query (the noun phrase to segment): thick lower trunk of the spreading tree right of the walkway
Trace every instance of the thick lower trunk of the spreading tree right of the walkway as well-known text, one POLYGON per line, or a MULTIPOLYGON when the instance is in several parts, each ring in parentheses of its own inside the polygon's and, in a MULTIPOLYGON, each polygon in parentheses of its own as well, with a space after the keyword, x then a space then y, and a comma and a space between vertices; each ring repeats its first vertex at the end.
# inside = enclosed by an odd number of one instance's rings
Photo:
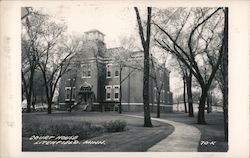
POLYGON ((205 105, 206 105, 206 98, 207 98, 207 89, 204 86, 202 86, 201 89, 202 89, 202 94, 201 94, 200 103, 199 103, 198 124, 206 124, 205 105))

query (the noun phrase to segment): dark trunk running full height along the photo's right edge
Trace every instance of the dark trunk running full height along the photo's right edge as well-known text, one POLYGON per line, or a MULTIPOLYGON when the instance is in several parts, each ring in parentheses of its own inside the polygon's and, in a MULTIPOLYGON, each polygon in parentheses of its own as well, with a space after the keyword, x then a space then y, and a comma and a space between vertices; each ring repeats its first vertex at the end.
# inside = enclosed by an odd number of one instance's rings
POLYGON ((224 53, 222 58, 223 68, 223 113, 224 113, 224 134, 228 141, 228 8, 225 8, 224 24, 224 53))

